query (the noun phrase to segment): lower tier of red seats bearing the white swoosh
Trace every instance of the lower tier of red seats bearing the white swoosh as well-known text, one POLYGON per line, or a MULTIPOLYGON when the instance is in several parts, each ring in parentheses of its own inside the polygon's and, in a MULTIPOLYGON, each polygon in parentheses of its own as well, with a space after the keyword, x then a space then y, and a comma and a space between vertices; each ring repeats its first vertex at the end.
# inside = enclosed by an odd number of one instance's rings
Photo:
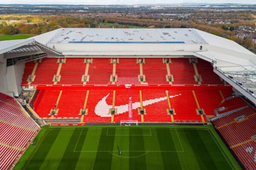
MULTIPOLYGON (((55 107, 58 96, 61 90, 40 90, 37 98, 33 104, 33 108, 39 116, 43 118, 50 118, 51 109, 55 107)), ((169 104, 167 97, 170 99, 171 108, 175 109, 173 115, 176 122, 202 122, 202 117, 198 114, 198 106, 192 89, 180 88, 153 88, 153 89, 88 89, 88 90, 62 90, 58 101, 58 114, 53 115, 54 118, 81 118, 80 110, 88 109, 87 114, 84 115, 84 122, 111 122, 110 109, 116 108, 114 115, 114 122, 120 120, 141 120, 141 115, 138 113, 138 108, 141 108, 140 91, 142 93, 142 104, 145 113, 143 115, 144 122, 171 122, 171 116, 167 114, 169 104), (88 91, 88 98, 85 105, 86 94, 88 91), (113 99, 115 91, 115 98, 113 99), (167 95, 166 95, 167 91, 167 95), (128 105, 130 103, 130 106, 128 105), (84 108, 85 105, 85 108, 84 108), (132 114, 129 114, 129 107, 132 114), (130 116, 129 116, 130 115, 130 116)), ((216 107, 215 102, 204 104, 204 99, 211 96, 212 100, 221 101, 221 95, 215 95, 216 91, 208 88, 195 91, 198 96, 200 108, 209 111, 206 112, 204 121, 206 122, 206 115, 214 115, 210 111, 216 107)), ((224 88, 221 91, 230 91, 230 88, 224 88)))

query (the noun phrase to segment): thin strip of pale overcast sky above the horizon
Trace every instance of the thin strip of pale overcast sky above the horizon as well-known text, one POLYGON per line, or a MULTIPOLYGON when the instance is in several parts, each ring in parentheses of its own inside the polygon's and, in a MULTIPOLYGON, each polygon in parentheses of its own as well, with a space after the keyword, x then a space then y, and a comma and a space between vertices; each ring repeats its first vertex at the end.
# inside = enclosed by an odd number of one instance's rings
POLYGON ((0 0, 0 4, 84 4, 84 5, 108 5, 108 4, 154 4, 154 3, 250 3, 256 4, 256 0, 0 0))

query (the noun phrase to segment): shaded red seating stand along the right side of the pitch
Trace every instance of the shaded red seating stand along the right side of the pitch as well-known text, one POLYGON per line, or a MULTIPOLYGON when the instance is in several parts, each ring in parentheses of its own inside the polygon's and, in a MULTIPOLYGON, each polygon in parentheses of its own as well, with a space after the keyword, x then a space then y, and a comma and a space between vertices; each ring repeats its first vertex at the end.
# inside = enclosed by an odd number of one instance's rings
POLYGON ((212 123, 221 134, 225 142, 247 170, 256 169, 256 111, 239 97, 232 97, 221 103, 232 109, 226 110, 228 114, 220 114, 212 123), (233 101, 233 102, 231 102, 233 101), (243 106, 237 108, 237 105, 243 106), (234 107, 235 106, 235 107, 234 107))

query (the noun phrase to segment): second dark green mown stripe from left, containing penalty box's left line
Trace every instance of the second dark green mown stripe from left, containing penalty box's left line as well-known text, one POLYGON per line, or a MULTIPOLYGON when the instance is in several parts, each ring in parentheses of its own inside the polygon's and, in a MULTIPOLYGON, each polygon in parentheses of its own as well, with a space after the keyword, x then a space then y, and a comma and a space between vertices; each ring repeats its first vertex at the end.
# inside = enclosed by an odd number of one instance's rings
POLYGON ((84 139, 86 135, 87 135, 87 129, 75 129, 73 131, 70 141, 66 147, 65 153, 62 156, 61 163, 58 166, 58 170, 63 170, 63 169, 73 170, 76 168, 76 164, 79 159, 80 152, 74 152, 74 149, 76 147, 76 149, 81 150, 81 147, 84 144, 84 139), (78 139, 79 139, 79 142, 78 142, 78 139))

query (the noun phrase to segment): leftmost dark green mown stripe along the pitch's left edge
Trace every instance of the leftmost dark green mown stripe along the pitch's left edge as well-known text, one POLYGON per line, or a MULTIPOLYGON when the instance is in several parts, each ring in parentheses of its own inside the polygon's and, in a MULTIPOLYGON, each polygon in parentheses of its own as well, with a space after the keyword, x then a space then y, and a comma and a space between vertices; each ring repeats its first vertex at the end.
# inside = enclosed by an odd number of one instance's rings
POLYGON ((61 129, 51 129, 24 169, 39 170, 61 129))

